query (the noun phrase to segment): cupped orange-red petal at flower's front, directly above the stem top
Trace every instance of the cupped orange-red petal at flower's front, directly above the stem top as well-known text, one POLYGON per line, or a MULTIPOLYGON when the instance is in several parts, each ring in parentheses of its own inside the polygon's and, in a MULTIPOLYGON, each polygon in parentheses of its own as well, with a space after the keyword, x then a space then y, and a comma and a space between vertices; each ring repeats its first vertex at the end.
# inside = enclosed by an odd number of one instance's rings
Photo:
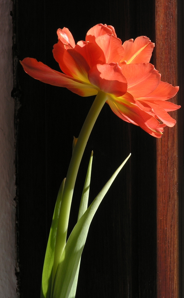
POLYGON ((105 93, 121 96, 126 93, 127 82, 117 63, 97 64, 88 73, 89 81, 105 93))

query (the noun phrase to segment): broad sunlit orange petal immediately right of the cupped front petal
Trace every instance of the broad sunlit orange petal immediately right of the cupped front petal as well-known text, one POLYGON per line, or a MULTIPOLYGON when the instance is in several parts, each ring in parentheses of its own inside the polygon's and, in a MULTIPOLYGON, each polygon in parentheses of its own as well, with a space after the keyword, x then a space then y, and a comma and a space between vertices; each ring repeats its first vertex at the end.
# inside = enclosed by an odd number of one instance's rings
POLYGON ((134 98, 145 97, 160 83, 161 75, 150 63, 123 64, 121 69, 127 80, 127 92, 134 98))

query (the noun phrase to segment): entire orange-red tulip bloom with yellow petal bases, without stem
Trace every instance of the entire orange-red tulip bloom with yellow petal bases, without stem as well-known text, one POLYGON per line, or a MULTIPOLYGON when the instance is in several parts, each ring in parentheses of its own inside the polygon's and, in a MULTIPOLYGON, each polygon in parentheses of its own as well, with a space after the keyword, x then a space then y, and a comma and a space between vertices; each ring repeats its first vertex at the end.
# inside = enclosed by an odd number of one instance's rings
POLYGON ((92 27, 86 41, 76 45, 67 28, 58 29, 57 34, 53 55, 63 73, 36 59, 25 58, 21 64, 31 77, 66 87, 81 96, 103 91, 118 117, 157 138, 166 125, 175 125, 167 112, 180 106, 166 100, 174 97, 179 87, 160 81, 161 75, 149 63, 154 48, 149 38, 140 36, 122 45, 114 28, 103 24, 92 27))

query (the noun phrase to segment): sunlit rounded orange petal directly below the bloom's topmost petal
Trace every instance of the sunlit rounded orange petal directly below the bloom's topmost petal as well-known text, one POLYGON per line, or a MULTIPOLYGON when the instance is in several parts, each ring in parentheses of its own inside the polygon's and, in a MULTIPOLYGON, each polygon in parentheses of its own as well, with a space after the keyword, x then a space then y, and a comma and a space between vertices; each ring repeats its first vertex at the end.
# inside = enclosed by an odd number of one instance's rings
POLYGON ((106 58, 106 63, 118 63, 124 55, 122 42, 114 35, 103 34, 95 39, 106 58))

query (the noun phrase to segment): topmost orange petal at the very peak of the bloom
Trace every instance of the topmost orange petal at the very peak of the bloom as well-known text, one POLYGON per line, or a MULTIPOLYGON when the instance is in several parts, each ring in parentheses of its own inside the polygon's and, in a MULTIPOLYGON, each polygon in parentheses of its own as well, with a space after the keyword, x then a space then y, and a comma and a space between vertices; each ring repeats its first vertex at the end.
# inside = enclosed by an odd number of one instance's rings
POLYGON ((96 37, 103 34, 110 34, 110 35, 112 34, 116 36, 114 27, 107 26, 106 24, 105 25, 98 24, 92 27, 91 29, 89 29, 89 31, 86 34, 86 41, 94 42, 96 37))

